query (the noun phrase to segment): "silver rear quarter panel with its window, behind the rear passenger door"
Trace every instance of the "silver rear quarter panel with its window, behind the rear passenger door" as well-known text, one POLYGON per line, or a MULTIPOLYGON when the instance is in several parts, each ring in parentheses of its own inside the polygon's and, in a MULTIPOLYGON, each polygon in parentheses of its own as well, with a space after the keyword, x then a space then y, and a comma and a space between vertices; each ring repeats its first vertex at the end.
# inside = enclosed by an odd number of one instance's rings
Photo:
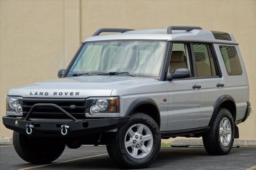
POLYGON ((240 123, 249 100, 249 84, 246 69, 238 45, 214 44, 222 68, 224 93, 236 102, 236 123, 240 123))

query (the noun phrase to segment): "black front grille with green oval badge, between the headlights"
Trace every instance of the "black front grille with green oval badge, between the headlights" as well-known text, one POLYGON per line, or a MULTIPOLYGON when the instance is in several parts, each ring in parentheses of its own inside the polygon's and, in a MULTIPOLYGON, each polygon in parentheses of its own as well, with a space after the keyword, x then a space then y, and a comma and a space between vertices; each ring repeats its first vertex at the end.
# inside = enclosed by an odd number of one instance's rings
MULTIPOLYGON (((70 113, 77 119, 85 117, 85 99, 50 99, 50 98, 23 98, 23 116, 26 117, 34 104, 53 103, 70 113), (75 109, 70 109, 70 105, 75 105, 75 109)), ((54 107, 36 107, 31 118, 61 118, 69 119, 54 107)))

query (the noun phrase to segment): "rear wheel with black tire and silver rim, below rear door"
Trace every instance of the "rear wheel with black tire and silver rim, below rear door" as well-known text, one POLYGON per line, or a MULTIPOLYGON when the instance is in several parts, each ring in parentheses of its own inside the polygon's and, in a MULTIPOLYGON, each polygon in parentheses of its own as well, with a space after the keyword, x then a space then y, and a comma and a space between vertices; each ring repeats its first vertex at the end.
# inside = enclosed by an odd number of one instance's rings
POLYGON ((219 108, 212 126, 203 136, 204 148, 210 155, 225 155, 234 142, 234 120, 228 109, 219 108))

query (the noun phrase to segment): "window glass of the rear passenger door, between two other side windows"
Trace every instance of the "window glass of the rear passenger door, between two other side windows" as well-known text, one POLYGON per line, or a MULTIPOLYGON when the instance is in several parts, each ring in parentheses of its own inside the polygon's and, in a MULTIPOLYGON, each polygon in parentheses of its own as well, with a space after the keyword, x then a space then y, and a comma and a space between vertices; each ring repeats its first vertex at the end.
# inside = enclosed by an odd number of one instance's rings
POLYGON ((192 46, 198 77, 216 76, 216 69, 210 45, 193 43, 192 46))

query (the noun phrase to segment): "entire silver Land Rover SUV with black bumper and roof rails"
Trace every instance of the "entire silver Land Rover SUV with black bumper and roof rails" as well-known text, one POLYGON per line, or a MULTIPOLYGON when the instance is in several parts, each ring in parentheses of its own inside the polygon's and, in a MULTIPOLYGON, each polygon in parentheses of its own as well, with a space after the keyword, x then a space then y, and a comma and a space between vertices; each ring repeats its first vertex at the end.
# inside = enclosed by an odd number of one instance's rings
POLYGON ((116 163, 144 168, 161 138, 176 136, 202 136, 209 154, 228 154, 250 115, 242 55, 226 32, 101 28, 58 77, 8 92, 3 123, 27 162, 106 144, 116 163))

